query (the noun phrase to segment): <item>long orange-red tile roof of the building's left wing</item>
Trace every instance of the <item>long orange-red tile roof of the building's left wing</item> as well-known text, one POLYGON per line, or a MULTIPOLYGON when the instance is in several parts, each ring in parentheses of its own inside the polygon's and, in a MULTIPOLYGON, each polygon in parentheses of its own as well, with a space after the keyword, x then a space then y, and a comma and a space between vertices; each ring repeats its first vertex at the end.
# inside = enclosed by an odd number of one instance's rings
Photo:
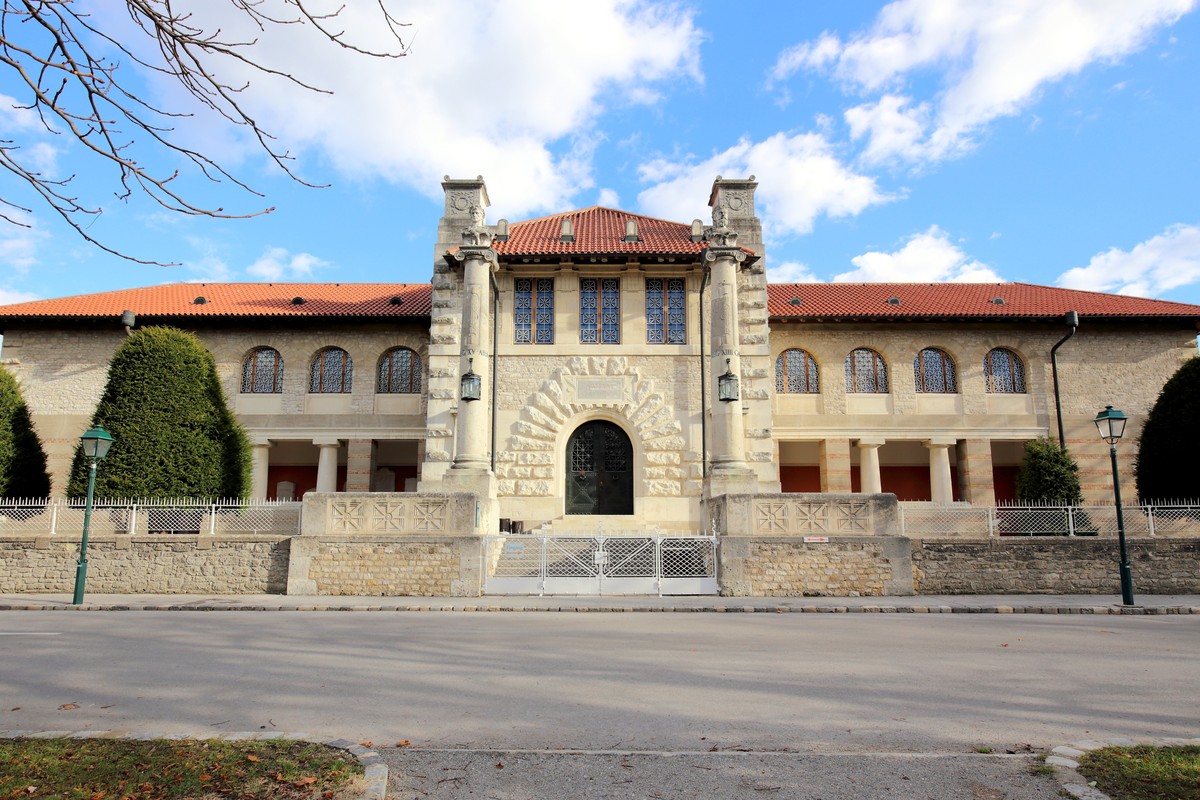
POLYGON ((14 318, 428 317, 427 283, 168 283, 0 306, 14 318), (294 302, 296 297, 302 303, 294 302))

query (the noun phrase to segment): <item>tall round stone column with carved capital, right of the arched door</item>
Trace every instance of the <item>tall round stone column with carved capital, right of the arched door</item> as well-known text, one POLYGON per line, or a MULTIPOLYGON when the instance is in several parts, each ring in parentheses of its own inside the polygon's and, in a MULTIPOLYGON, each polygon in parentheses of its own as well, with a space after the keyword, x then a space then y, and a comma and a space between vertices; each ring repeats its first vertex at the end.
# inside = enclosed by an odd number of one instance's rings
POLYGON ((708 477, 709 497, 752 494, 758 488, 756 473, 746 463, 745 422, 740 386, 742 355, 738 349, 738 265, 746 259, 738 247, 738 234, 728 227, 726 211, 713 209, 710 242, 704 253, 712 271, 713 349, 709 356, 709 397, 713 407, 713 459, 708 477), (718 385, 721 375, 738 375, 739 396, 721 401, 718 385))

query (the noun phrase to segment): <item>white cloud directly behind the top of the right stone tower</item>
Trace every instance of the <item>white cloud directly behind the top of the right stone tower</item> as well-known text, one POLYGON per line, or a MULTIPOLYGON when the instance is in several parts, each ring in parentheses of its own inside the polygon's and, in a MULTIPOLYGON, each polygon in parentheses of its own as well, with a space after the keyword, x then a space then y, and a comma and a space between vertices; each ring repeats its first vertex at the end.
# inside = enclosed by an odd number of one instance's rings
POLYGON ((668 219, 708 219, 704 205, 718 175, 767 176, 756 206, 768 237, 806 234, 820 216, 845 217, 889 199, 875 179, 842 164, 818 133, 776 133, 762 142, 742 139, 704 161, 659 158, 642 164, 640 176, 653 184, 638 194, 641 207, 668 219))

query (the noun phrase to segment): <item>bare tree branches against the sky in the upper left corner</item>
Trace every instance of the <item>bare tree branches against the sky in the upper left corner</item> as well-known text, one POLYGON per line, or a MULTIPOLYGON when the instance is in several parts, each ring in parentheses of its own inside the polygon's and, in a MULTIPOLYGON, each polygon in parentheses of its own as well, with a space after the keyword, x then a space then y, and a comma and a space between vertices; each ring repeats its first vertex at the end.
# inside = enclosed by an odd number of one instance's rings
MULTIPOLYGON (((218 0, 208 0, 216 2, 218 0)), ((214 182, 228 182, 254 197, 264 197, 238 179, 204 152, 182 144, 175 134, 175 120, 191 116, 188 112, 158 108, 139 90, 122 82, 120 61, 108 55, 108 49, 128 61, 167 76, 184 88, 202 108, 209 109, 234 126, 250 132, 264 152, 289 178, 314 186, 293 169, 292 156, 276 138, 253 116, 242 92, 248 83, 230 84, 220 76, 222 67, 239 66, 263 77, 286 80, 314 92, 326 90, 306 83, 287 70, 256 59, 257 40, 238 40, 222 30, 206 30, 190 12, 179 12, 173 0, 125 0, 126 11, 136 30, 151 40, 157 59, 140 56, 134 42, 101 28, 89 14, 76 7, 76 0, 0 0, 0 68, 7 67, 22 94, 16 110, 32 112, 41 127, 52 136, 62 136, 86 149, 100 164, 115 168, 119 185, 115 198, 128 199, 140 193, 164 209, 188 215, 222 219, 246 218, 269 213, 274 207, 259 207, 245 213, 188 199, 178 179, 179 170, 157 172, 142 163, 136 152, 146 149, 160 155, 182 157, 196 173, 214 182)), ((397 22, 376 0, 377 13, 384 30, 395 42, 391 50, 364 47, 337 28, 344 6, 332 12, 318 12, 312 0, 224 0, 259 31, 280 25, 296 25, 317 31, 332 46, 368 58, 396 59, 407 55, 408 48, 400 35, 403 24, 397 22)), ((137 261, 131 253, 104 245, 88 228, 101 213, 101 205, 82 200, 71 188, 74 175, 52 178, 37 168, 36 154, 23 145, 19 137, 5 132, 0 139, 0 168, 18 184, 30 187, 84 240, 101 249, 137 261)), ((0 209, 32 213, 11 197, 0 194, 0 209)), ((18 227, 29 227, 19 215, 0 211, 0 219, 18 227)))

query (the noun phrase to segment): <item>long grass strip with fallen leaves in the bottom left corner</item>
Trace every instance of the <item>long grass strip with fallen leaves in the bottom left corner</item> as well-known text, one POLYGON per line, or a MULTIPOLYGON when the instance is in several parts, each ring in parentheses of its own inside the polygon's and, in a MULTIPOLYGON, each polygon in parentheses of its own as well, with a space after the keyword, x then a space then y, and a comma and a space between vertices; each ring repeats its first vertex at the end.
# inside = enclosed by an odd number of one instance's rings
POLYGON ((361 774, 307 741, 0 740, 0 800, 335 800, 361 774))

